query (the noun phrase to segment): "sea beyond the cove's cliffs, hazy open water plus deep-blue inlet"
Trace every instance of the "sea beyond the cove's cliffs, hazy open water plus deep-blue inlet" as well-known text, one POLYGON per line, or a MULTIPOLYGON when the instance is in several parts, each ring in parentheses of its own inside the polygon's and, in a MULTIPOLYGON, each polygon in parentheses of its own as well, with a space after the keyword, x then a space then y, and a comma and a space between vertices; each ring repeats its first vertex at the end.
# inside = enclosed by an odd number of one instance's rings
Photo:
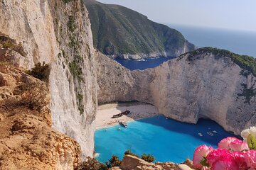
MULTIPOLYGON (((167 25, 180 31, 188 41, 192 42, 197 47, 218 47, 240 55, 256 57, 256 31, 246 32, 242 30, 178 26, 174 24, 167 25)), ((117 62, 131 70, 143 70, 157 67, 159 64, 169 59, 170 58, 160 57, 157 59, 146 59, 144 62, 118 59, 117 62)))

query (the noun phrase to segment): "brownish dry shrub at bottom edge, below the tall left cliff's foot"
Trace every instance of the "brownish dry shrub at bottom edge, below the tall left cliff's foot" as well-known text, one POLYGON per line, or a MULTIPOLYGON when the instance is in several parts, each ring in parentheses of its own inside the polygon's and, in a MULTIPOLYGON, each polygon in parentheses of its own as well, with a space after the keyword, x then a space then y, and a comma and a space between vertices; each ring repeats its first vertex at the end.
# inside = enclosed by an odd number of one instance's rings
POLYGON ((96 159, 87 157, 87 160, 79 164, 75 170, 107 170, 107 166, 96 159))

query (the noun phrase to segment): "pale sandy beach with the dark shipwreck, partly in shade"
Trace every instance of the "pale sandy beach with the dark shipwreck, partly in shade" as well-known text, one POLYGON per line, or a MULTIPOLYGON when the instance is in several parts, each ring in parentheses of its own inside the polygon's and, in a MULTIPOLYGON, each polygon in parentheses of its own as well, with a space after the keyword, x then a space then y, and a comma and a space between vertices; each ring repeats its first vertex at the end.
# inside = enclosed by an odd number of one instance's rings
POLYGON ((97 114, 94 121, 96 129, 107 128, 112 125, 117 125, 120 121, 130 122, 140 118, 150 118, 159 115, 155 106, 139 103, 107 103, 97 108, 97 114), (111 118, 124 111, 131 111, 129 115, 122 115, 120 118, 111 118))

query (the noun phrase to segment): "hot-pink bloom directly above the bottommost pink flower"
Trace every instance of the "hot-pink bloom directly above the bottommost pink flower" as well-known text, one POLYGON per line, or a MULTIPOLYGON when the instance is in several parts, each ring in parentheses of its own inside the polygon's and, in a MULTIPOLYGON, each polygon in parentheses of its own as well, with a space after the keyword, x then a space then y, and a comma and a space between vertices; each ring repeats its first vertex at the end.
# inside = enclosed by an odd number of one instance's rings
POLYGON ((214 149, 212 152, 210 152, 207 157, 207 162, 210 166, 213 166, 215 162, 218 160, 230 160, 233 159, 232 153, 227 149, 214 149))

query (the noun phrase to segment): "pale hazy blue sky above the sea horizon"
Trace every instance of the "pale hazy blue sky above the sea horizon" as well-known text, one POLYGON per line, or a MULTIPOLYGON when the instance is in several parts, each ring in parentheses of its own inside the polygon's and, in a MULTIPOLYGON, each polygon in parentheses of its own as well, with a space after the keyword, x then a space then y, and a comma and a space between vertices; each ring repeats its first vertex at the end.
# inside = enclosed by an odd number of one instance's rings
POLYGON ((98 0, 159 23, 256 31, 256 0, 98 0))

